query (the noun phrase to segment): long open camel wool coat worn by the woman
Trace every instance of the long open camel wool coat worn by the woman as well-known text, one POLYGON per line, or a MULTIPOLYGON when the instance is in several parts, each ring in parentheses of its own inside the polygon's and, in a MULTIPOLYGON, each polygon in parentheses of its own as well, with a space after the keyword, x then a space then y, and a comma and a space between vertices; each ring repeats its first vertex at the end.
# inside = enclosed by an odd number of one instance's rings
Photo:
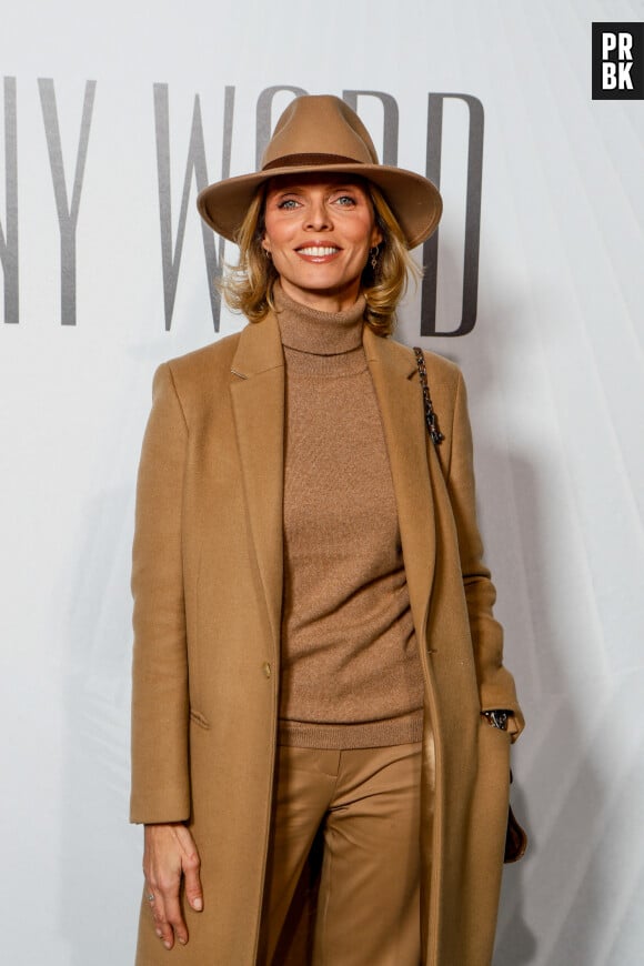
MULTIPOLYGON (((453 363, 426 354, 445 436, 434 449, 411 350, 369 328, 363 344, 424 677, 423 966, 489 966, 510 743, 523 718, 481 562, 465 389, 453 363), (514 711, 513 734, 481 716, 490 708, 514 711)), ((133 547, 131 821, 190 826, 204 910, 185 904, 190 940, 168 953, 143 902, 138 966, 256 962, 280 684, 283 443, 274 315, 159 368, 133 547)))

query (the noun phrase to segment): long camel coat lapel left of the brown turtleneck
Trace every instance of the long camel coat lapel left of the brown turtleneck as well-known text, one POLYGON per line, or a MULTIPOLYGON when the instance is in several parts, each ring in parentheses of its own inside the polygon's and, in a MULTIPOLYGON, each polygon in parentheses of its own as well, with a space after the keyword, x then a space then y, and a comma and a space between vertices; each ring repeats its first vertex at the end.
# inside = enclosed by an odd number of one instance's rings
POLYGON ((271 631, 279 648, 283 578, 284 355, 274 315, 251 323, 242 331, 231 374, 244 494, 271 631))

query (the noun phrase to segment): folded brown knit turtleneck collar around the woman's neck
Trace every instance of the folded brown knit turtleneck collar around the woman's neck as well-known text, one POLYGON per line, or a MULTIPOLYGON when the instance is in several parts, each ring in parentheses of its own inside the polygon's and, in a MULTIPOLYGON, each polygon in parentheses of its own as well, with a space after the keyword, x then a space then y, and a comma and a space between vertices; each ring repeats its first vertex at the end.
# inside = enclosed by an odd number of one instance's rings
POLYGON ((340 355, 362 348, 365 300, 344 312, 321 312, 294 302, 278 283, 273 292, 282 344, 313 355, 340 355))

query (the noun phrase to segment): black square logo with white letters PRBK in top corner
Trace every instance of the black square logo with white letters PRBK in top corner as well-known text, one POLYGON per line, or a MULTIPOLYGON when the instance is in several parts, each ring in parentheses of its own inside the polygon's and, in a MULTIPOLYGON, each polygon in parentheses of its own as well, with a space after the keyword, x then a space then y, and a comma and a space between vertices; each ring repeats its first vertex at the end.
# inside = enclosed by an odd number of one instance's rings
POLYGON ((593 100, 644 99, 644 23, 593 23, 593 100))

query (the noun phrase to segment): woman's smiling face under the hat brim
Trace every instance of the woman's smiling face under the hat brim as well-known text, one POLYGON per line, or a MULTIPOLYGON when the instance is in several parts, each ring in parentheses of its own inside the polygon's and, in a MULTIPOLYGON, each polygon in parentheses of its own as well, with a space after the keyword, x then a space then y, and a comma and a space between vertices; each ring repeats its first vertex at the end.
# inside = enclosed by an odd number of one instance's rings
POLYGON ((349 309, 360 293, 369 250, 380 244, 371 198, 359 180, 301 174, 269 182, 262 245, 282 289, 324 312, 349 309))

